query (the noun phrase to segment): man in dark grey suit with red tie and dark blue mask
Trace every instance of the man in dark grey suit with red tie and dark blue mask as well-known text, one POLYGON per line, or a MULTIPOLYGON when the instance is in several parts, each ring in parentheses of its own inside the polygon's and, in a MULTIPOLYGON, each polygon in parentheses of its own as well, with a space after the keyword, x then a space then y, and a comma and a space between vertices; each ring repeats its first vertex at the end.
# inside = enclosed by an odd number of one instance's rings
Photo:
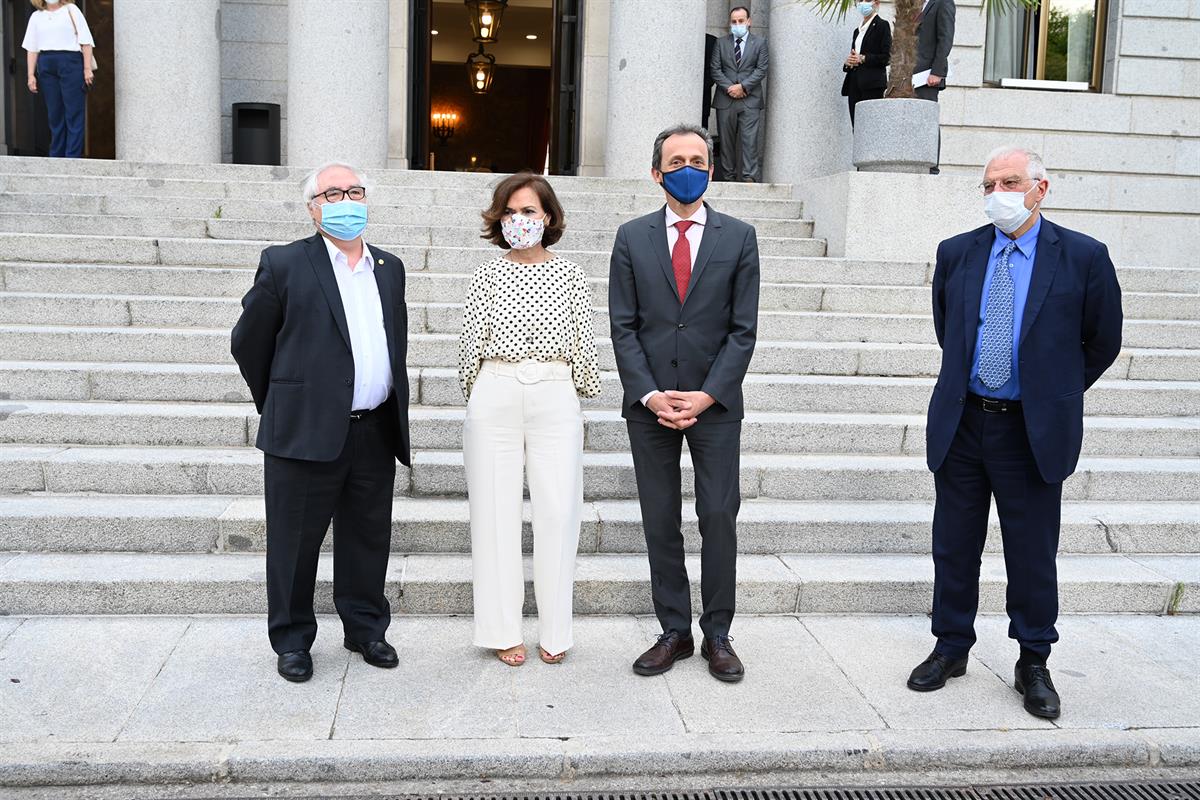
POLYGON ((634 672, 658 675, 695 651, 679 529, 686 439, 703 539, 701 655, 713 676, 738 681, 745 670, 728 633, 737 584, 742 380, 758 326, 758 240, 752 225, 703 201, 713 173, 713 140, 704 128, 664 131, 650 163, 666 206, 617 230, 608 272, 622 416, 662 626, 634 672))

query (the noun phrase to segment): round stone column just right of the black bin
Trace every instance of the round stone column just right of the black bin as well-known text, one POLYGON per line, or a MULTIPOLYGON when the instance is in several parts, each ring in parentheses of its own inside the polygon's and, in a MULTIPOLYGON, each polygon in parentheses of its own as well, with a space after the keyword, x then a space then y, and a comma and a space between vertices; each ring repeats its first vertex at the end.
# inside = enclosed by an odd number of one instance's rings
POLYGON ((388 166, 388 17, 379 0, 288 0, 289 166, 388 166))

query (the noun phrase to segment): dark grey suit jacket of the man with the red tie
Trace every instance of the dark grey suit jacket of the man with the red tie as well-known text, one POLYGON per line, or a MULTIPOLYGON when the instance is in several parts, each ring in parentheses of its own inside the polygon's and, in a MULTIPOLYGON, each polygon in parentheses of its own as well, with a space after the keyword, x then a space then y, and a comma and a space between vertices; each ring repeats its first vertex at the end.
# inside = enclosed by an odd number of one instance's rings
POLYGON ((716 401, 697 425, 744 416, 742 380, 758 330, 758 239, 754 225, 704 207, 708 222, 683 305, 665 209, 617 229, 608 318, 626 420, 656 422, 642 397, 668 389, 704 391, 716 401))

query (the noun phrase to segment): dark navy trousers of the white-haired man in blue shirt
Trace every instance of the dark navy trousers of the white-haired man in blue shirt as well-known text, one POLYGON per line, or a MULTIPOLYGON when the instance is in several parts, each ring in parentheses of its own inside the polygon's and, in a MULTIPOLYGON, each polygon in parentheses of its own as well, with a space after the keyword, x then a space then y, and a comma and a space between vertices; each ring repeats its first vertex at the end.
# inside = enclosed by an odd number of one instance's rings
POLYGON ((1062 483, 1038 474, 1020 411, 967 405, 934 473, 934 636, 936 650, 964 657, 976 642, 979 564, 996 498, 1008 573, 1008 634, 1043 658, 1058 640, 1058 523, 1062 483))

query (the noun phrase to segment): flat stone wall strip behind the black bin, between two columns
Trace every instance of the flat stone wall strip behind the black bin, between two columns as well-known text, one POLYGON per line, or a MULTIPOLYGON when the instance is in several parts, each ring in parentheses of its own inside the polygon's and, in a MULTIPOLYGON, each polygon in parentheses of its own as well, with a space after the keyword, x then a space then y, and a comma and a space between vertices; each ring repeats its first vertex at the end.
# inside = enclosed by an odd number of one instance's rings
POLYGON ((233 104, 278 103, 288 163, 287 0, 221 0, 221 161, 233 160, 233 104))

